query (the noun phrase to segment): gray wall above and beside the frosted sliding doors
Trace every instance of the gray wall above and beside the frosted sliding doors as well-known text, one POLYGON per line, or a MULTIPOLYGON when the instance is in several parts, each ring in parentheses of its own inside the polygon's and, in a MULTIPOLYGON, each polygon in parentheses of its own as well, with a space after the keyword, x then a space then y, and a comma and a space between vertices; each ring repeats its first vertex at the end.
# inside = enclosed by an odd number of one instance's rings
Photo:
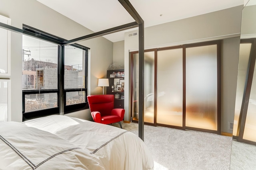
MULTIPOLYGON (((243 6, 237 6, 226 10, 220 10, 192 18, 164 23, 144 29, 145 49, 158 47, 170 47, 175 45, 226 39, 223 41, 222 49, 222 132, 232 133, 226 129, 227 121, 234 117, 234 100, 236 90, 236 75, 227 68, 237 70, 239 36, 241 26, 241 14, 243 6), (236 37, 236 38, 233 38, 236 37), (230 38, 230 39, 228 39, 230 38), (232 39, 233 38, 233 39, 232 39), (236 49, 236 50, 234 50, 236 49), (232 62, 230 62, 232 60, 232 62), (227 92, 226 89, 230 88, 227 92), (226 96, 228 95, 228 96, 226 96), (232 109, 230 109, 232 108, 232 109)), ((134 31, 131 31, 134 32, 134 31)), ((125 33, 124 40, 124 68, 126 77, 129 77, 130 57, 129 51, 138 50, 138 37, 128 37, 125 33)), ((236 71, 237 72, 237 71, 236 71)), ((129 79, 125 79, 125 84, 129 84, 129 79)), ((125 96, 130 96, 125 91, 125 96)), ((125 120, 129 120, 129 98, 124 100, 126 109, 125 120)))

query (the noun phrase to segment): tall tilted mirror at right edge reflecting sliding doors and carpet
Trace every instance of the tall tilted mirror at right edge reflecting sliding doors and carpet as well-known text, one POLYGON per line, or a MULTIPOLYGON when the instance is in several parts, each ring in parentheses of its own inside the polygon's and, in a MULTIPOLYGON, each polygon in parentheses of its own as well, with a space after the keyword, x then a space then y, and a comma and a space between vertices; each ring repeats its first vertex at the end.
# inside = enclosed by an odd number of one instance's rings
POLYGON ((256 0, 242 10, 230 170, 256 169, 256 0))

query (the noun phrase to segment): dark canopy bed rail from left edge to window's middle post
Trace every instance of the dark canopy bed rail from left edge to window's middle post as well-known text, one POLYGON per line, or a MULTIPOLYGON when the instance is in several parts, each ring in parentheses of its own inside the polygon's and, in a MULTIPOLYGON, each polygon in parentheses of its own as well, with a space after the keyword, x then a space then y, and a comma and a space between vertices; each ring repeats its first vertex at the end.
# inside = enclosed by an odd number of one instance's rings
POLYGON ((50 38, 44 37, 42 35, 39 35, 39 34, 36 34, 36 33, 32 33, 30 31, 19 29, 17 27, 14 27, 14 26, 2 23, 2 22, 0 22, 0 28, 4 28, 4 29, 7 29, 9 31, 13 31, 13 32, 16 32, 16 33, 21 33, 21 34, 24 34, 24 35, 28 35, 30 37, 36 37, 38 39, 42 39, 44 41, 48 41, 48 42, 55 43, 55 44, 58 44, 58 45, 62 43, 60 41, 56 41, 54 39, 50 39, 50 38))

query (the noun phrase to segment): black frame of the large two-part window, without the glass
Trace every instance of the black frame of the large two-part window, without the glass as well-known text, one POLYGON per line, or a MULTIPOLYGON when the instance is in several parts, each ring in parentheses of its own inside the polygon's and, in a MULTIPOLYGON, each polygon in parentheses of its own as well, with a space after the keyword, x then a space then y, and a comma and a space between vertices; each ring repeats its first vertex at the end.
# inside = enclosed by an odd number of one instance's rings
POLYGON ((54 115, 54 114, 66 114, 66 113, 72 113, 74 111, 79 111, 83 109, 88 109, 88 102, 87 102, 87 95, 88 95, 88 47, 85 47, 83 45, 74 43, 70 46, 80 48, 85 51, 85 66, 84 66, 84 75, 85 75, 85 87, 84 88, 76 88, 76 89, 64 89, 64 49, 65 46, 62 45, 64 41, 67 41, 66 39, 63 39, 61 37, 57 37, 55 35, 52 35, 50 33, 46 33, 44 31, 41 31, 39 29, 30 27, 28 25, 23 24, 23 30, 30 31, 36 35, 40 35, 40 37, 45 37, 46 39, 38 38, 36 36, 31 36, 36 39, 40 39, 43 41, 48 41, 50 43, 54 43, 58 45, 58 89, 53 90, 23 90, 22 89, 22 121, 26 121, 29 119, 34 119, 37 117, 43 117, 47 115, 54 115), (73 104, 66 106, 66 92, 85 92, 85 103, 81 104, 73 104), (30 111, 25 112, 25 95, 26 94, 47 94, 47 93, 57 93, 57 103, 58 107, 49 108, 49 109, 42 109, 37 111, 30 111))

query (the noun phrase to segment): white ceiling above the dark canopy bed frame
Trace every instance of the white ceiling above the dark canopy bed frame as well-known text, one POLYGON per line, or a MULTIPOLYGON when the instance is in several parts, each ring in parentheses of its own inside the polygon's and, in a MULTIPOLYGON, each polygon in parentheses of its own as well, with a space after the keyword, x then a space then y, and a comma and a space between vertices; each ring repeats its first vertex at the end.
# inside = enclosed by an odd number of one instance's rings
MULTIPOLYGON (((37 0, 88 29, 98 32, 134 19, 118 0, 37 0)), ((181 20, 244 4, 244 0, 130 0, 144 20, 144 26, 181 20), (161 15, 161 16, 160 16, 161 15)), ((124 40, 124 32, 104 37, 112 42, 124 40)))

